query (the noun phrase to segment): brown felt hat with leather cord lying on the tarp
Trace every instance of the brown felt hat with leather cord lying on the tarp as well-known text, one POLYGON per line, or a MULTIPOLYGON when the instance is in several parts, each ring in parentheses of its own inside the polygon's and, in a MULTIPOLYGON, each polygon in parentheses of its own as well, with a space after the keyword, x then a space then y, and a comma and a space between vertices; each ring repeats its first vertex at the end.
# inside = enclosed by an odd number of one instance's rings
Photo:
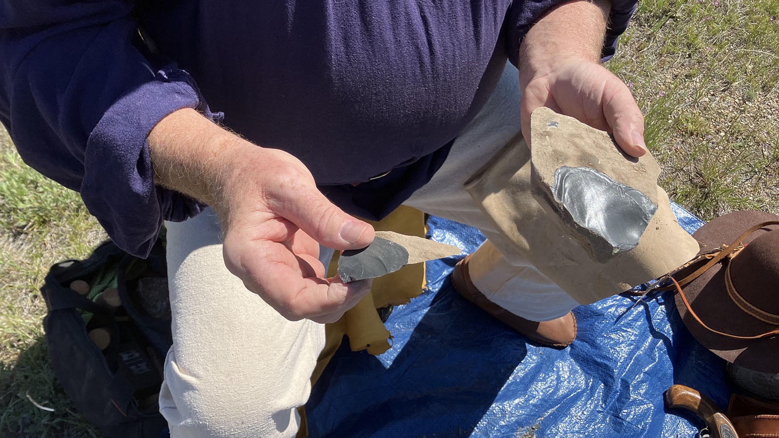
MULTIPOLYGON (((761 211, 738 211, 703 224, 693 234, 701 244, 699 256, 732 246, 749 228, 768 221, 779 221, 779 216, 761 211)), ((689 284, 682 284, 684 295, 678 292, 675 295, 676 308, 693 336, 715 355, 738 366, 776 374, 779 373, 779 333, 753 339, 725 334, 756 337, 779 329, 779 224, 757 229, 742 243, 743 249, 735 249, 731 256, 714 264, 689 284), (730 291, 726 281, 728 270, 730 291), (683 296, 693 309, 692 313, 683 296), (703 327, 702 323, 709 328, 703 327)), ((682 281, 706 261, 693 263, 673 277, 682 281)))

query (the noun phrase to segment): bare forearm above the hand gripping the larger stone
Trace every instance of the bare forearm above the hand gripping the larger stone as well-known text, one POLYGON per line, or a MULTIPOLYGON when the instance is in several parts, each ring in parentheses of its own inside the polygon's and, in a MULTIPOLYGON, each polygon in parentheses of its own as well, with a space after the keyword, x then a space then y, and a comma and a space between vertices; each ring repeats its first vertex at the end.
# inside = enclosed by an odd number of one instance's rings
POLYGON ((597 62, 601 57, 611 3, 577 0, 545 12, 520 45, 520 79, 566 58, 597 62))

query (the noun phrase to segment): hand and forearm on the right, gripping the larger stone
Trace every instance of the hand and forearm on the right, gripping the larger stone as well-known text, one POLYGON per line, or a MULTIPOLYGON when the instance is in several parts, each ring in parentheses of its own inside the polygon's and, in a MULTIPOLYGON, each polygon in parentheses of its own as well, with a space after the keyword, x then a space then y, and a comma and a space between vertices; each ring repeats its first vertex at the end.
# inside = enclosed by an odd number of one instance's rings
POLYGON ((626 154, 647 153, 643 115, 633 94, 598 62, 609 8, 603 2, 564 3, 527 32, 520 46, 520 87, 522 132, 528 142, 530 114, 546 106, 612 132, 626 154))

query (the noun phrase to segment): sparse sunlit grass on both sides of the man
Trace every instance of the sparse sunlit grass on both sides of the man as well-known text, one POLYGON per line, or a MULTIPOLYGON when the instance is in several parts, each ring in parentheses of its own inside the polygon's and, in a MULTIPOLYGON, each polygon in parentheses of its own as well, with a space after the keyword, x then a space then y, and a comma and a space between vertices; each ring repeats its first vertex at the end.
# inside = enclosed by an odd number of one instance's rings
MULTIPOLYGON (((647 115, 661 185, 704 219, 779 214, 777 48, 779 0, 645 0, 608 64, 647 115)), ((48 364, 38 288, 52 263, 103 238, 79 196, 27 168, 0 129, 0 436, 96 436, 48 364)))

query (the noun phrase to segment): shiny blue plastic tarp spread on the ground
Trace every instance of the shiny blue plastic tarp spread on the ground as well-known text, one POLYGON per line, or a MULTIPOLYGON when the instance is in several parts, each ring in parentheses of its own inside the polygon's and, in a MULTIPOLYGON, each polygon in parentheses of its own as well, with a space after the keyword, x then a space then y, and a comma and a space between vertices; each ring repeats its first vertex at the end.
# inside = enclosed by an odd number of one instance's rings
MULTIPOLYGON (((703 224, 672 207, 687 231, 703 224)), ((312 438, 692 438, 703 421, 664 408, 664 390, 682 383, 726 406, 724 362, 689 334, 671 292, 579 306, 576 341, 542 347, 453 290, 454 264, 484 236, 439 217, 428 224, 464 253, 428 263, 428 288, 386 322, 389 351, 341 345, 306 405, 312 438)))

